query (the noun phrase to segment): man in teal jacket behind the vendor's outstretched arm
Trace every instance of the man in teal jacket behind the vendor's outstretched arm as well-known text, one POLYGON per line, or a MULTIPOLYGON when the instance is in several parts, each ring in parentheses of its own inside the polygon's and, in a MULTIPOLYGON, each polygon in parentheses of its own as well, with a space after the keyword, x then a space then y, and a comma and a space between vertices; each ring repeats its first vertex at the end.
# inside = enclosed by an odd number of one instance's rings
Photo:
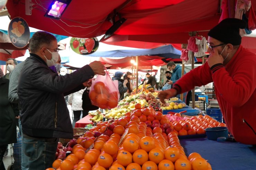
MULTIPOLYGON (((173 61, 170 61, 167 63, 167 69, 172 73, 171 80, 168 81, 168 83, 171 84, 173 87, 173 84, 181 78, 182 67, 180 65, 176 65, 173 61)), ((184 74, 186 74, 185 71, 184 74)), ((191 90, 183 93, 183 101, 186 102, 186 105, 189 105, 191 95, 191 90)), ((176 97, 181 98, 181 95, 177 94, 176 97)))

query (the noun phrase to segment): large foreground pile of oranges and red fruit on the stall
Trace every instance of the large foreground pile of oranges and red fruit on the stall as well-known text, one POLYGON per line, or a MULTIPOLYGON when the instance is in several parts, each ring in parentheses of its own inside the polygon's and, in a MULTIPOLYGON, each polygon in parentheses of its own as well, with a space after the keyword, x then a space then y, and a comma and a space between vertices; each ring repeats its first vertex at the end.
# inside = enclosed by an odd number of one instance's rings
POLYGON ((59 143, 62 152, 47 170, 211 170, 199 153, 185 154, 179 136, 204 134, 205 128, 224 123, 208 115, 163 115, 139 102, 134 107, 118 119, 99 121, 71 140, 68 156, 59 143))

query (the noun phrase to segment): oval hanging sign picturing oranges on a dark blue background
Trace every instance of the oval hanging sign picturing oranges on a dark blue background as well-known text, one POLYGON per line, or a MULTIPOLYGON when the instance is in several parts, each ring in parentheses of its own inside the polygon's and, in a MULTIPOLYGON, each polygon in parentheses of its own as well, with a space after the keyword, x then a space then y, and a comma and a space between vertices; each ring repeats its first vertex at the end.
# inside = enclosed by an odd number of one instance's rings
POLYGON ((23 18, 13 18, 8 26, 8 36, 13 46, 26 47, 30 38, 28 23, 23 18))

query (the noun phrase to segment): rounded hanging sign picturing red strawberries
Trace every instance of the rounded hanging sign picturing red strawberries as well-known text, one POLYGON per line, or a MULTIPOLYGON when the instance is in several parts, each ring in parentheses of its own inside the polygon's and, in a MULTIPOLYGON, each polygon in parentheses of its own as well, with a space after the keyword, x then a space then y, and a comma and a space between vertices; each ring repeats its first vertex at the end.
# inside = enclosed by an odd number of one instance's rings
POLYGON ((99 48, 98 38, 74 38, 70 40, 71 49, 77 54, 87 55, 94 53, 99 48))

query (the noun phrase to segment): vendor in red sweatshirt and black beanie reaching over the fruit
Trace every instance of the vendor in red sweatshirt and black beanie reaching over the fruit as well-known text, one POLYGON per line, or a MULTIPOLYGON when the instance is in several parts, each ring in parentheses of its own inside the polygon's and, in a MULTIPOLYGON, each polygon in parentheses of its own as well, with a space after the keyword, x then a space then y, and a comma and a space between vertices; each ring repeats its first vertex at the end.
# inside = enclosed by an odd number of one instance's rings
POLYGON ((236 141, 256 144, 256 54, 244 49, 239 28, 243 20, 222 20, 208 33, 205 64, 186 73, 173 89, 159 92, 162 102, 176 94, 214 82, 219 106, 228 130, 236 141))

